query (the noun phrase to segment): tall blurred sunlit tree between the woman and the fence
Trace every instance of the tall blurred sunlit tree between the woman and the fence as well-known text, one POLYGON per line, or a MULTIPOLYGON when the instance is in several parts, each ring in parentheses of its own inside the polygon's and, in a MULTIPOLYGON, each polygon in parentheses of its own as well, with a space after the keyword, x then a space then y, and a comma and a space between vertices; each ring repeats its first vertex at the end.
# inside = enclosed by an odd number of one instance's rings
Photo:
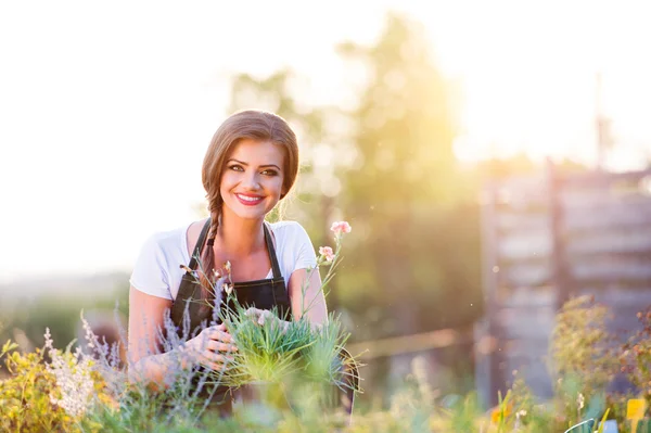
POLYGON ((390 14, 373 47, 341 53, 370 77, 339 196, 355 230, 343 301, 373 336, 468 323, 482 308, 476 190, 457 170, 448 87, 423 29, 390 14))

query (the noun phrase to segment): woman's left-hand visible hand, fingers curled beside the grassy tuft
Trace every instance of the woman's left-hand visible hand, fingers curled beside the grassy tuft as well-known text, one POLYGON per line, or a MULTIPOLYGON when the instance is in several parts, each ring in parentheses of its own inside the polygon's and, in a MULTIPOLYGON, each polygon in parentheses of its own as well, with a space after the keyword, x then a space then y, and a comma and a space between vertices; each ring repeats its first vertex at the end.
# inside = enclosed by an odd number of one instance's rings
POLYGON ((226 330, 226 324, 215 324, 201 331, 194 339, 188 340, 181 351, 197 362, 213 370, 225 370, 233 361, 232 356, 226 354, 238 351, 231 334, 226 330))

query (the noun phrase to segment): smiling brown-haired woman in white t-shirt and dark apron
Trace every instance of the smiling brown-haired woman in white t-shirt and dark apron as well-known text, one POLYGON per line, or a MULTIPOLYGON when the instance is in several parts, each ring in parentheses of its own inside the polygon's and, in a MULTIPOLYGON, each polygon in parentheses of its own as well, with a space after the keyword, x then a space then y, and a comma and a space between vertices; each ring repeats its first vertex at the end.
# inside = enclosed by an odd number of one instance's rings
MULTIPOLYGON (((224 324, 199 329, 210 317, 207 308, 190 298, 210 298, 181 265, 230 271, 238 301, 264 310, 278 307, 286 318, 303 314, 318 326, 327 320, 326 300, 316 266, 314 246, 296 222, 265 222, 265 216, 291 190, 298 171, 296 137, 281 117, 259 111, 230 116, 217 129, 206 152, 202 178, 210 217, 177 230, 156 233, 145 242, 129 294, 129 362, 137 378, 154 387, 166 383, 179 367, 222 369, 229 352, 237 351, 224 324), (199 290, 196 290, 199 288, 199 290), (305 292, 303 292, 305 290, 305 292), (307 308, 309 306, 309 308, 307 308), (190 339, 178 353, 162 353, 155 335, 164 329, 167 309, 177 327, 183 310, 191 315, 190 339), (180 313, 180 316, 179 316, 180 313)), ((204 303, 205 304, 205 303, 204 303)))

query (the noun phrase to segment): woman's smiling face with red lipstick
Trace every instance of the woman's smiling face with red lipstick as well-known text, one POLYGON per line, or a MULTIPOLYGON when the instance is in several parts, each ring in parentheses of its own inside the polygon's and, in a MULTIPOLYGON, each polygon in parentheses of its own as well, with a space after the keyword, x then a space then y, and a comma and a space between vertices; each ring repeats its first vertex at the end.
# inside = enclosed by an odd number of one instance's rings
POLYGON ((226 158, 219 192, 224 211, 261 219, 280 200, 284 179, 282 148, 270 141, 241 140, 226 158))

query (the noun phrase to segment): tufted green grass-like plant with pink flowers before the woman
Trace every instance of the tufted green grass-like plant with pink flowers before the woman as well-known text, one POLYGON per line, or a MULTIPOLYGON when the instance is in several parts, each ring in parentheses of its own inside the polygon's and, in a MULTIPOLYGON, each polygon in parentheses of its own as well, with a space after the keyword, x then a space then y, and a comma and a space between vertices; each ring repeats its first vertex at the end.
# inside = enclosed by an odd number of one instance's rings
MULTIPOLYGON (((341 259, 342 239, 350 232, 345 222, 334 222, 335 249, 321 246, 316 267, 308 269, 305 281, 320 267, 328 267, 319 291, 327 295, 327 286, 341 259)), ((353 395, 360 392, 357 367, 359 362, 344 349, 350 334, 343 329, 340 316, 328 315, 323 323, 310 323, 307 313, 316 300, 307 298, 307 284, 302 288, 303 310, 297 320, 283 320, 275 308, 260 311, 241 305, 230 273, 230 263, 221 271, 204 269, 196 257, 199 270, 191 271, 195 282, 208 281, 214 310, 226 324, 238 351, 232 353, 222 371, 214 371, 208 383, 237 390, 246 386, 257 389, 256 398, 266 404, 285 407, 305 413, 336 405, 336 392, 353 395), (213 278, 201 277, 212 276, 213 278), (219 306, 222 305, 224 309, 219 306), (311 405, 309 409, 307 404, 311 405)), ((207 302, 207 301, 204 301, 207 302)), ((214 318, 215 319, 215 318, 214 318)), ((210 324, 210 323, 208 323, 210 324)), ((246 391, 242 393, 246 394, 246 391)), ((251 392, 248 393, 251 394, 251 392)), ((348 397, 350 398, 350 397, 348 397)), ((259 402, 258 402, 259 403, 259 402)), ((349 402, 352 404, 352 402, 349 402)))

